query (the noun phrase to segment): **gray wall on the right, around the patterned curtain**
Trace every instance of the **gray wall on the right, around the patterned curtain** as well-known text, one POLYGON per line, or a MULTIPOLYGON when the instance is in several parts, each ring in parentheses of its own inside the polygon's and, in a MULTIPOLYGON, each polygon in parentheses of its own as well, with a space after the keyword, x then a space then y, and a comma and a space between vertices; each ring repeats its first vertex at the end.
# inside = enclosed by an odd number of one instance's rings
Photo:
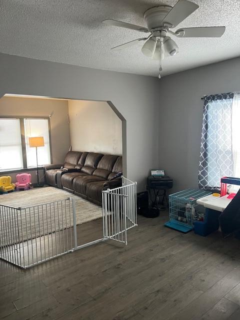
POLYGON ((197 187, 204 94, 240 91, 240 58, 168 75, 159 85, 159 168, 177 191, 197 187))

